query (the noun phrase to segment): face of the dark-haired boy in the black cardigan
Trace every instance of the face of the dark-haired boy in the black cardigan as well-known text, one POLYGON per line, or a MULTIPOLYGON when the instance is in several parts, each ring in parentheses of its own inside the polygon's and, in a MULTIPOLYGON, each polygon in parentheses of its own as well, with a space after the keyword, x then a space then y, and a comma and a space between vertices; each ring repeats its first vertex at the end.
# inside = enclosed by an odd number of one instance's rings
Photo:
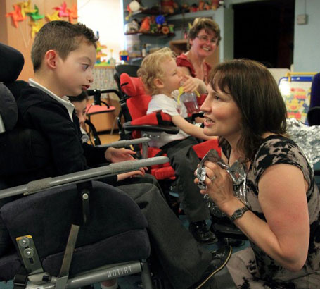
POLYGON ((93 44, 81 42, 65 60, 58 57, 57 62, 56 90, 60 94, 57 94, 59 97, 77 96, 82 90, 87 90, 94 81, 92 70, 96 63, 96 49, 93 44))

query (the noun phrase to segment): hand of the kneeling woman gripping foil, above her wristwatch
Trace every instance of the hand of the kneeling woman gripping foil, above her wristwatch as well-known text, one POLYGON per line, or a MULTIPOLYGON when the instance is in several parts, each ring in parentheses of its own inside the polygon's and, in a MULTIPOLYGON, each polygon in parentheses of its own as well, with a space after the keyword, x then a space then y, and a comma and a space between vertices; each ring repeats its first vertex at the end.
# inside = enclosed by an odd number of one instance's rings
MULTIPOLYGON (((200 190, 200 193, 203 195, 208 194, 219 209, 224 211, 224 207, 236 198, 233 195, 233 182, 231 177, 226 170, 211 161, 205 161, 204 166, 207 190, 200 190)), ((195 183, 199 183, 198 178, 196 178, 195 183)))

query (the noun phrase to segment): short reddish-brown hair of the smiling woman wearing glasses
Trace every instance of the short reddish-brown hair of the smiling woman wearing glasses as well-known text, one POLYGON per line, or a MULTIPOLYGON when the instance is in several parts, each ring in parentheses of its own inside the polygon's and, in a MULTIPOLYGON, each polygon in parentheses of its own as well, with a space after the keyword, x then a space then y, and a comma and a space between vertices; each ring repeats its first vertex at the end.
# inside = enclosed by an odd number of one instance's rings
MULTIPOLYGON (((205 32, 214 32, 217 37, 217 46, 220 43, 220 27, 215 20, 205 17, 198 17, 193 20, 192 26, 188 32, 188 39, 195 39, 200 32, 200 30, 205 30, 205 32)), ((190 44, 188 43, 188 49, 190 49, 190 44)))

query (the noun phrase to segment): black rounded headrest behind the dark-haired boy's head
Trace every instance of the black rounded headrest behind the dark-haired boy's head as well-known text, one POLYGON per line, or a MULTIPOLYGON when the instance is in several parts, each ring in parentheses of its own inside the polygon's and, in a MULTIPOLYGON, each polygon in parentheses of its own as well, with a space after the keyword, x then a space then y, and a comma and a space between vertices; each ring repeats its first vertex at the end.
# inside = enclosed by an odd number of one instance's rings
POLYGON ((24 64, 23 54, 13 47, 0 43, 0 82, 15 81, 24 64))

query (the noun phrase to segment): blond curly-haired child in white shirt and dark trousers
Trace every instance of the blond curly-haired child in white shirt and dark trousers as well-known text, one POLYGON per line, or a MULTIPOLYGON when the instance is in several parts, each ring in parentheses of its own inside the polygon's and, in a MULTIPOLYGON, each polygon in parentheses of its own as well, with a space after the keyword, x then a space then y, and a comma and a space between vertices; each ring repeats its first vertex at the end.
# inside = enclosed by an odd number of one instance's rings
MULTIPOLYGON (((187 112, 184 104, 179 104, 172 96, 178 90, 181 81, 186 78, 177 70, 173 51, 168 48, 149 54, 138 70, 146 91, 152 95, 148 104, 148 113, 163 111, 172 117, 172 122, 180 128, 177 135, 161 133, 160 138, 151 140, 152 147, 165 150, 177 177, 177 188, 181 205, 190 223, 189 230, 202 244, 217 242, 215 234, 207 228, 206 219, 210 219, 207 204, 193 182, 193 173, 199 163, 192 146, 199 140, 211 140, 203 133, 203 128, 186 121, 187 112)), ((185 91, 192 89, 191 78, 184 84, 185 91), (187 88, 186 88, 187 87, 187 88)), ((192 90, 191 90, 192 91, 192 90)))

